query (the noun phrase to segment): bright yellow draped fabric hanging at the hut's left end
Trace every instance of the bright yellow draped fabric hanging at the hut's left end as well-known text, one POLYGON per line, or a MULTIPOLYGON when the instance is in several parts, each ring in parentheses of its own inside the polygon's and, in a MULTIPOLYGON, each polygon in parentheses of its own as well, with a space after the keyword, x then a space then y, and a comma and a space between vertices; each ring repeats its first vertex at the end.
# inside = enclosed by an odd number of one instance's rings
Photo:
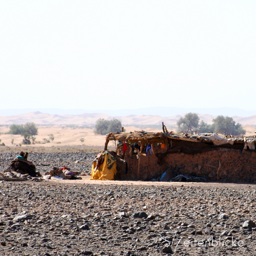
POLYGON ((104 154, 104 162, 96 169, 97 162, 93 162, 92 178, 90 180, 110 180, 113 181, 117 173, 117 162, 110 154, 104 154), (108 167, 111 167, 110 169, 108 167))

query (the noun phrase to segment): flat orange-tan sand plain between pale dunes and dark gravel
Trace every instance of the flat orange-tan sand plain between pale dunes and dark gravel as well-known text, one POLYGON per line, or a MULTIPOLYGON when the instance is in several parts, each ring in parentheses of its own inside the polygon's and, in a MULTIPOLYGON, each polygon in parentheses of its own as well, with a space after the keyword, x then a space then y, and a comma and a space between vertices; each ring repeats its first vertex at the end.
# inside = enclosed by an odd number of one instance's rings
MULTIPOLYGON (((76 150, 79 148, 84 148, 87 151, 101 151, 101 149, 103 150, 104 148, 106 136, 95 134, 94 128, 73 128, 64 125, 37 126, 37 128, 38 135, 35 136, 35 143, 31 145, 23 145, 23 136, 6 134, 9 131, 10 127, 0 126, 1 143, 5 144, 5 147, 0 146, 0 151, 5 151, 6 147, 8 147, 8 149, 6 149, 8 151, 15 151, 17 150, 17 147, 27 148, 30 151, 35 151, 39 149, 42 151, 42 148, 45 148, 45 150, 47 151, 57 151, 58 148, 59 150, 63 150, 61 149, 61 147, 69 147, 67 149, 71 151, 72 149, 76 150), (49 139, 50 135, 53 135, 53 141, 49 139), (50 142, 46 143, 43 139, 48 139, 50 142), (82 139, 83 141, 81 141, 80 139, 82 139)), ((144 130, 146 132, 161 132, 160 128, 152 128, 150 126, 148 128, 145 126, 141 126, 141 128, 135 126, 124 126, 124 129, 126 130, 126 132, 134 132, 140 130, 144 130)), ((255 135, 255 127, 251 125, 245 125, 243 126, 243 129, 246 130, 246 134, 244 136, 255 135)), ((168 127, 167 125, 167 130, 176 132, 176 129, 173 129, 173 126, 168 127)), ((110 141, 109 148, 114 149, 115 147, 115 142, 110 141)))

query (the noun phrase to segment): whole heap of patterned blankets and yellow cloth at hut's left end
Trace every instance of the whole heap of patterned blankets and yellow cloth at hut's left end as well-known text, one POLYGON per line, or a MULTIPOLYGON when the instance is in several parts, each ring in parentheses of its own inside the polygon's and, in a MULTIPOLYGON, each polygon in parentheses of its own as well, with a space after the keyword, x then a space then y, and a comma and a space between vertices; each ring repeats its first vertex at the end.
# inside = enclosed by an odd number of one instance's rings
POLYGON ((114 151, 106 150, 98 154, 93 160, 90 180, 113 181, 117 174, 117 159, 118 156, 114 151))

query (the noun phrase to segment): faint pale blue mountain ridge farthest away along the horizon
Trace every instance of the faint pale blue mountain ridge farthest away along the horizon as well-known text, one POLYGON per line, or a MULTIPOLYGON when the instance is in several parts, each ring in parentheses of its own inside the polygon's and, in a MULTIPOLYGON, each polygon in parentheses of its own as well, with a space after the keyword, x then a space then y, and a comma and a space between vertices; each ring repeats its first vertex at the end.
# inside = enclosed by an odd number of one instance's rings
POLYGON ((30 112, 42 112, 51 115, 80 115, 83 113, 106 113, 109 116, 129 116, 129 115, 159 115, 161 117, 173 117, 176 115, 182 115, 184 113, 202 113, 212 116, 238 116, 238 117, 250 117, 256 115, 256 110, 244 110, 240 108, 176 108, 176 107, 149 107, 139 109, 120 109, 120 110, 85 110, 85 109, 57 109, 57 108, 26 108, 26 109, 6 109, 0 110, 0 116, 13 116, 26 114, 30 112))

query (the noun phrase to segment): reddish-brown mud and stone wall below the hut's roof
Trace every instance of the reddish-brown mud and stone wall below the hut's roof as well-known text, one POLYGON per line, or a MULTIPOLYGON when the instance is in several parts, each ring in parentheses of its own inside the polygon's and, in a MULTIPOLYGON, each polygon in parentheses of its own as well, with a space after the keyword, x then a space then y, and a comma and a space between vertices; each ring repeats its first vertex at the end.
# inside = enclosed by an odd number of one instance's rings
MULTIPOLYGON (((256 152, 236 149, 218 149, 205 153, 187 155, 169 154, 162 165, 157 164, 156 156, 141 156, 140 180, 160 178, 169 167, 174 175, 196 175, 208 181, 254 182, 256 183, 256 152)), ((119 168, 119 179, 137 178, 138 159, 128 160, 128 171, 119 168)))

